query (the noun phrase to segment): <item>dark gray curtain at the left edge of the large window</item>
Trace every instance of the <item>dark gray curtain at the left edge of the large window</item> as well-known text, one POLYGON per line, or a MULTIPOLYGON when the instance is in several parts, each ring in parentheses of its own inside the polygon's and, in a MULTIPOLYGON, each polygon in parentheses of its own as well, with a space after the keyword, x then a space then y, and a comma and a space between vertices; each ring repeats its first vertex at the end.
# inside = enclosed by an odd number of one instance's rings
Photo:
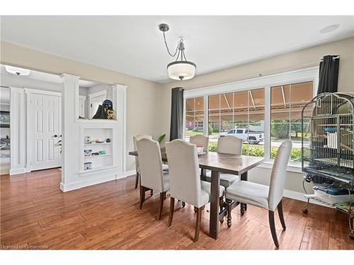
POLYGON ((170 141, 183 136, 183 88, 172 88, 170 141))

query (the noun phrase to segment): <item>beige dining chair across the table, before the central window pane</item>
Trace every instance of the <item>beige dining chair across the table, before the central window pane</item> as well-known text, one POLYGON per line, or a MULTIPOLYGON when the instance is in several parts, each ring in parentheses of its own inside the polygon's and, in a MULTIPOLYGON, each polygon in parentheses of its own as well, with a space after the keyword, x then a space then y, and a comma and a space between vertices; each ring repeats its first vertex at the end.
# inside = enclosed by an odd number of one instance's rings
MULTIPOLYGON (((232 155, 241 155, 242 154, 242 139, 237 138, 236 136, 223 136, 217 140, 217 153, 228 153, 232 155)), ((206 173, 206 181, 210 182, 211 173, 208 171, 206 173)), ((239 181, 238 175, 220 173, 220 185, 225 189, 231 186, 234 182, 239 181)))

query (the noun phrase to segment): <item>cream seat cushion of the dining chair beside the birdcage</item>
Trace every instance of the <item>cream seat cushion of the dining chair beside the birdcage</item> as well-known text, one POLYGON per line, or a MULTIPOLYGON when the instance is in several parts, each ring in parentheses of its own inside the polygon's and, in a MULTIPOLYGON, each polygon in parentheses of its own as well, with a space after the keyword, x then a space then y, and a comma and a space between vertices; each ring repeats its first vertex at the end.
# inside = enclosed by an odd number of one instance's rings
POLYGON ((268 209, 269 187, 241 180, 226 189, 226 198, 268 209))

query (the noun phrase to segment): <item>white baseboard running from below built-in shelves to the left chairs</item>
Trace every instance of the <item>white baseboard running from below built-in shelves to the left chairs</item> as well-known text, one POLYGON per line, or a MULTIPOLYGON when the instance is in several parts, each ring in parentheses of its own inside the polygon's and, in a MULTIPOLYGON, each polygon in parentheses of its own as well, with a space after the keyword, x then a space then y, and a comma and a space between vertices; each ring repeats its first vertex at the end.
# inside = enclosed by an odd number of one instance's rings
POLYGON ((88 179, 88 180, 84 180, 81 182, 75 182, 75 183, 70 183, 70 184, 64 184, 64 183, 60 182, 60 190, 62 190, 62 192, 69 192, 74 189, 81 189, 81 188, 88 187, 91 185, 96 185, 96 184, 100 184, 103 182, 109 182, 109 181, 112 181, 115 179, 122 179, 124 177, 129 177, 131 175, 135 175, 135 170, 126 171, 126 172, 122 172, 119 174, 109 174, 109 175, 105 175, 104 177, 99 177, 99 178, 95 178, 95 179, 88 179))

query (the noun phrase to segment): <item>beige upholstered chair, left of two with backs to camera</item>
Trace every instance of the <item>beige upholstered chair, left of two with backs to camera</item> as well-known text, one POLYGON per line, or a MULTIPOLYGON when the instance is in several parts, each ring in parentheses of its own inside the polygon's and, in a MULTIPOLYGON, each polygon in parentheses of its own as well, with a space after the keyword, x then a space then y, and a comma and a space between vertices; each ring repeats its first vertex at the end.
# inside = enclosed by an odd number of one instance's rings
POLYGON ((140 209, 145 200, 145 192, 156 190, 160 192, 159 218, 161 219, 162 208, 166 192, 169 191, 169 173, 162 169, 161 151, 158 141, 142 138, 137 141, 140 169, 140 209))

